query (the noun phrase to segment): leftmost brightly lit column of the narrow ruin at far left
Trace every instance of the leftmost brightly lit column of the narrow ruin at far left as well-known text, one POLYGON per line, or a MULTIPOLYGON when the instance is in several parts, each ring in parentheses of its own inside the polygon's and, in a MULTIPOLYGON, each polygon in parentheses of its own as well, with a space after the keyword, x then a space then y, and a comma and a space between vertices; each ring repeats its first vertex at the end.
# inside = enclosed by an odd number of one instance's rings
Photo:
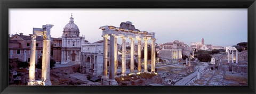
MULTIPOLYGON (((36 69, 36 35, 31 36, 30 46, 30 61, 29 61, 29 82, 35 81, 35 69, 36 69)), ((33 85, 33 84, 29 84, 33 85)))

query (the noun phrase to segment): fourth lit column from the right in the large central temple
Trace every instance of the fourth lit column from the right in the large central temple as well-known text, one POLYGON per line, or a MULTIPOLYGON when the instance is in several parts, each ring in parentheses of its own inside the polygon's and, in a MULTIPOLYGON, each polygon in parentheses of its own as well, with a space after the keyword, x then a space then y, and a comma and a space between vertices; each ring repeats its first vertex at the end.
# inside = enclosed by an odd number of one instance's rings
POLYGON ((130 74, 133 75, 134 73, 134 39, 130 37, 131 39, 131 66, 130 66, 130 74))

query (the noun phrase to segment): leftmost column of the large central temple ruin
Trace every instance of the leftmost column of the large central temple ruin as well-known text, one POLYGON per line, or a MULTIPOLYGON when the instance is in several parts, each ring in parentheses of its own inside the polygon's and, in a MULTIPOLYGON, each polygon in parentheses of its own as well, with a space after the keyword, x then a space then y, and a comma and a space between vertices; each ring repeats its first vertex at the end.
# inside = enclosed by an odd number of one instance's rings
POLYGON ((108 79, 108 35, 103 36, 103 72, 101 79, 108 79))

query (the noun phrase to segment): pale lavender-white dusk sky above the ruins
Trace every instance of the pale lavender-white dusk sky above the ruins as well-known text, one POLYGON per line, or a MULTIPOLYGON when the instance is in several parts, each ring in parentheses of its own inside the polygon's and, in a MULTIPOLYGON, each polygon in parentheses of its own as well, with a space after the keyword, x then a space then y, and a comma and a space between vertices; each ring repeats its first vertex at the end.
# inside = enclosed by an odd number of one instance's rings
MULTIPOLYGON (((247 42, 247 8, 9 8, 9 33, 29 35, 33 28, 53 24, 51 36, 59 38, 71 13, 80 36, 91 43, 103 39, 99 27, 119 27, 126 21, 140 31, 155 32, 157 44, 179 40, 190 46, 190 42, 201 42, 202 38, 213 46, 247 42)), ((117 41, 121 44, 122 39, 117 41)))

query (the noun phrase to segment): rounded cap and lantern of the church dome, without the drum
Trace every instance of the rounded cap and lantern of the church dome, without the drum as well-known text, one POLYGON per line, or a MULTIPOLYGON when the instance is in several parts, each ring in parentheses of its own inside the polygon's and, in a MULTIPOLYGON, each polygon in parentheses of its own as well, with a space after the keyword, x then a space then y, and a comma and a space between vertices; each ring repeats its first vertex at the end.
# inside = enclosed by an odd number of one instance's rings
POLYGON ((64 31, 79 32, 77 25, 74 23, 74 18, 71 16, 70 21, 64 27, 64 31))

